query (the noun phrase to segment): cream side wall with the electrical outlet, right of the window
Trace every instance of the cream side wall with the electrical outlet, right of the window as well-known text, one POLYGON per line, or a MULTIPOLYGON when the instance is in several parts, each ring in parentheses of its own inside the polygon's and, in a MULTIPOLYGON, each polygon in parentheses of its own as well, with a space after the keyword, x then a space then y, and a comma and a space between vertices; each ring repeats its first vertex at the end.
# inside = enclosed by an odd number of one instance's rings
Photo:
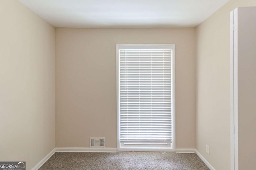
POLYGON ((196 27, 196 148, 216 170, 230 169, 229 24, 230 11, 238 6, 256 1, 230 0, 196 27))

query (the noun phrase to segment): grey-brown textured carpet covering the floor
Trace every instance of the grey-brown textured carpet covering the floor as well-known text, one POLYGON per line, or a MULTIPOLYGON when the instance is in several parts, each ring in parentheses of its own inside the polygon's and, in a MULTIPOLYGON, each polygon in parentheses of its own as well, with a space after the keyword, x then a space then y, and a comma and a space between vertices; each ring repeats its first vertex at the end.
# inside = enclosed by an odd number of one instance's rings
POLYGON ((39 170, 209 170, 195 153, 56 152, 39 170))

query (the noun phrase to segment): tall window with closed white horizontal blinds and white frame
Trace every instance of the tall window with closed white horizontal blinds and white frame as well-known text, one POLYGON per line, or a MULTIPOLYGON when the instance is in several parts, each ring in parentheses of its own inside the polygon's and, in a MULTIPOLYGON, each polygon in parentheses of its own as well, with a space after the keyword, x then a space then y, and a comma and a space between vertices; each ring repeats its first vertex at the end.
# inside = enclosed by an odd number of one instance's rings
POLYGON ((117 44, 118 150, 175 149, 174 44, 117 44))

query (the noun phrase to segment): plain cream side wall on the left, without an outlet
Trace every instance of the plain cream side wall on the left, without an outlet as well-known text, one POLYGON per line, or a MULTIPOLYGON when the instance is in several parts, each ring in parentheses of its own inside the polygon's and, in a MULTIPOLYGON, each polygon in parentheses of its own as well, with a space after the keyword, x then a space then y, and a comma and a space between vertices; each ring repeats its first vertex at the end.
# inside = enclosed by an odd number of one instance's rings
POLYGON ((55 147, 55 31, 0 0, 0 161, 34 167, 55 147))

